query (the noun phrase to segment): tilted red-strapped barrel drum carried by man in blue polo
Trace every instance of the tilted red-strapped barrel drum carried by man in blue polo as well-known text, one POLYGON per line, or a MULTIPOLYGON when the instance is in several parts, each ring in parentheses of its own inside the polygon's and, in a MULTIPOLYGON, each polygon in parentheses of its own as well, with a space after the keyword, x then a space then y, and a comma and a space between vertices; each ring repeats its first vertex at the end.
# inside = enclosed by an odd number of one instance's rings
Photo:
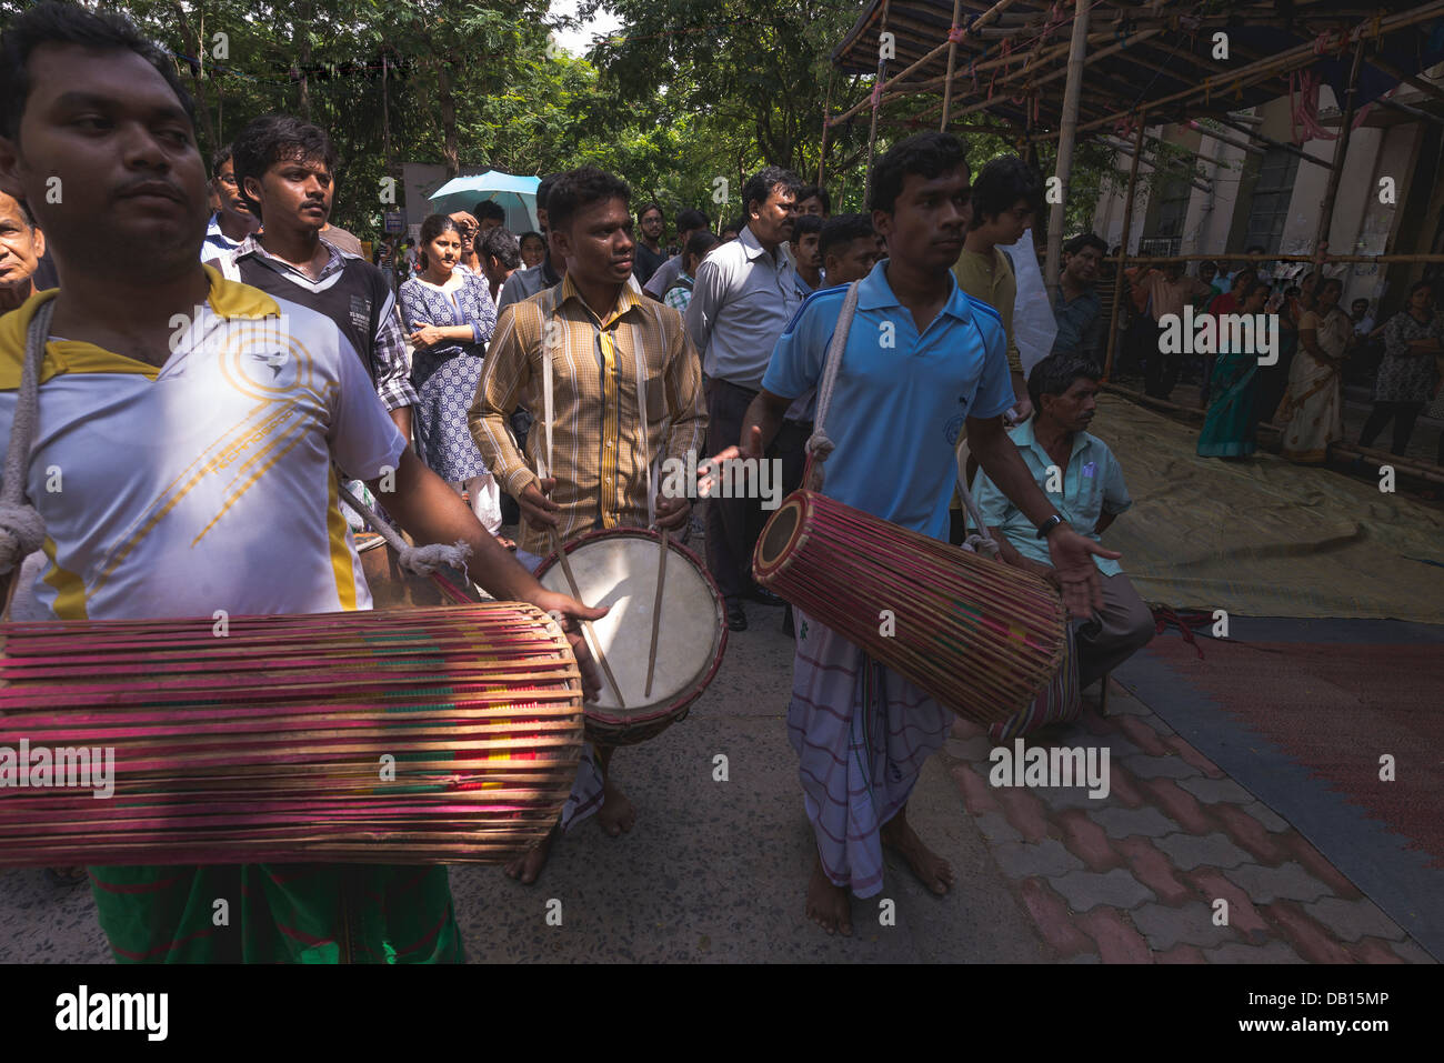
POLYGON ((752 555, 757 582, 962 716, 1006 721, 1063 663, 1047 581, 794 491, 752 555))

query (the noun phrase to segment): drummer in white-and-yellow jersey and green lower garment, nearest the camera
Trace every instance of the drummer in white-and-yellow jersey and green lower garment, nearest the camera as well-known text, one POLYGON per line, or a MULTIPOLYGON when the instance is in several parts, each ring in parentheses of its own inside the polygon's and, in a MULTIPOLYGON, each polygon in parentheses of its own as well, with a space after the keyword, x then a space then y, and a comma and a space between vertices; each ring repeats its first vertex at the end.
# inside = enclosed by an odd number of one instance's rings
MULTIPOLYGON (((0 446, 29 448, 35 503, 6 514, 0 543, 12 557, 43 544, 49 615, 211 630, 222 615, 370 608, 332 464, 381 491, 419 543, 464 540, 498 598, 605 612, 543 589, 487 534, 407 448, 332 321, 201 264, 205 166, 169 56, 75 4, 29 9, 0 53, 0 188, 39 215, 61 274, 59 295, 0 322, 0 446), (17 417, 32 322, 35 422, 17 417)), ((462 958, 445 867, 90 874, 121 962, 462 958)))

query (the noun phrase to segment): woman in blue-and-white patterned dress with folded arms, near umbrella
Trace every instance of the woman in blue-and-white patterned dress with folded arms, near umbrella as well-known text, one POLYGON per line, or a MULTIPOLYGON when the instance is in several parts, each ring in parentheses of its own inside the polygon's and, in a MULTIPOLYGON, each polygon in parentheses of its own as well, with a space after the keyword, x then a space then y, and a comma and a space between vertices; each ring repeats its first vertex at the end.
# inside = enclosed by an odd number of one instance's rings
MULTIPOLYGON (((436 475, 471 494, 482 526, 501 530, 501 490, 466 428, 481 360, 497 326, 487 279, 456 269, 462 235, 445 214, 422 222, 422 272, 401 285, 401 316, 412 326, 416 448, 436 475)), ((507 543, 510 546, 510 543, 507 543)))

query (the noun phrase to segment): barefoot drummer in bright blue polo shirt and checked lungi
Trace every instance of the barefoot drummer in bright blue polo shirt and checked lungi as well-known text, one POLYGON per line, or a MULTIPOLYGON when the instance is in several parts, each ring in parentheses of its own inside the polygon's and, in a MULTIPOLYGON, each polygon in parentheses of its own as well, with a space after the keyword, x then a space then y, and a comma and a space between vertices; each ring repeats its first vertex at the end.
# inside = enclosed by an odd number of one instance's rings
MULTIPOLYGON (((891 259, 858 282, 856 316, 826 413, 836 451, 823 493, 947 542, 953 442, 966 422, 979 464, 1047 537, 1069 608, 1086 614, 1100 604, 1089 555, 1118 555, 1054 520, 1057 511, 1004 433, 1014 394, 1002 322, 963 295, 949 272, 967 231, 967 199, 963 144, 950 134, 908 137, 874 169, 872 224, 891 259)), ((718 458, 758 456, 793 399, 819 384, 846 292, 807 298, 777 342, 741 448, 718 458)), ((952 885, 949 864, 907 822, 923 761, 941 747, 952 721, 895 672, 799 614, 787 728, 817 839, 807 916, 829 933, 852 933, 849 888, 858 897, 882 888, 882 845, 898 849, 928 890, 952 885)))

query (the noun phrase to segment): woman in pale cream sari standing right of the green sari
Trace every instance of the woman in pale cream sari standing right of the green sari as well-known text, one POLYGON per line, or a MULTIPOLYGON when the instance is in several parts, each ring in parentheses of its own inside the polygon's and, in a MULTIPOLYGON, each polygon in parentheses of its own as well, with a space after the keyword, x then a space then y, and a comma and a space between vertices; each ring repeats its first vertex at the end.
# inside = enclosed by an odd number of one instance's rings
POLYGON ((1320 280, 1314 309, 1298 322, 1298 351, 1288 371, 1288 390, 1275 423, 1284 426, 1284 456, 1301 465, 1321 465, 1328 443, 1343 439, 1341 370, 1353 324, 1339 309, 1343 282, 1320 280))

